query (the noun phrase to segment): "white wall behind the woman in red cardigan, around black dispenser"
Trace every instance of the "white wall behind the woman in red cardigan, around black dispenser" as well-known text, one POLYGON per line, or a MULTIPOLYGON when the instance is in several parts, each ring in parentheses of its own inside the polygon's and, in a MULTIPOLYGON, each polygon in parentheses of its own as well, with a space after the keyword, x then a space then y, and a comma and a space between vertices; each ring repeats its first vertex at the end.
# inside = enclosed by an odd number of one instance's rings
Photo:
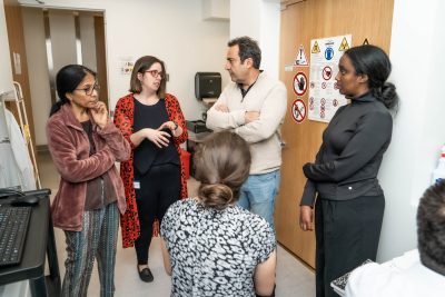
MULTIPOLYGON (((36 1, 21 0, 36 6, 36 1)), ((169 92, 176 95, 187 119, 198 119, 204 107, 195 99, 195 73, 218 71, 222 85, 227 21, 202 21, 201 0, 46 0, 47 7, 103 10, 110 108, 127 93, 129 77, 119 71, 122 58, 157 56, 166 62, 169 92)))

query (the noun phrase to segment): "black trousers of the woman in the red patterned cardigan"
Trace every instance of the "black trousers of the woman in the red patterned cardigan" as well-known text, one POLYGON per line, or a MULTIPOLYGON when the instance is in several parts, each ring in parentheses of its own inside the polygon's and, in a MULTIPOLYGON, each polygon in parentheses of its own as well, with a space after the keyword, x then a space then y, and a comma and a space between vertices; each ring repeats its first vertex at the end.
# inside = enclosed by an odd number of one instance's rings
POLYGON ((140 189, 135 189, 140 224, 140 236, 135 241, 135 249, 138 265, 146 265, 155 218, 160 224, 168 207, 179 199, 180 167, 174 164, 152 166, 144 176, 135 170, 135 181, 140 184, 140 189))

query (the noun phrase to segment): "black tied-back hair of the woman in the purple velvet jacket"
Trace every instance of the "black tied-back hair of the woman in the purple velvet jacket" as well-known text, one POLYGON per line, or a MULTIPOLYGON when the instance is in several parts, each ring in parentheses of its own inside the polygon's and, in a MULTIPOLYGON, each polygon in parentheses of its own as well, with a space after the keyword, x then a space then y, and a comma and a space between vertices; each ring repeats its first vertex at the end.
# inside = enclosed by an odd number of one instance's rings
POLYGON ((50 117, 59 111, 62 105, 70 102, 67 98, 67 93, 76 90, 88 73, 96 78, 96 72, 82 65, 67 65, 57 72, 56 88, 59 100, 52 105, 49 112, 50 117))

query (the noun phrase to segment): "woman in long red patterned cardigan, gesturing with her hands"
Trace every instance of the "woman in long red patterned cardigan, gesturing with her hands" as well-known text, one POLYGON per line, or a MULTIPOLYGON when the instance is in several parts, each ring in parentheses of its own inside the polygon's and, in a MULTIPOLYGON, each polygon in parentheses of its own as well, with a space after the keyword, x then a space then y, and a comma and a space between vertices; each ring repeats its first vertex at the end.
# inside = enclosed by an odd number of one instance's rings
MULTIPOLYGON (((156 57, 136 61, 130 93, 120 98, 115 123, 131 146, 131 158, 121 162, 127 211, 121 216, 123 247, 135 245, 138 273, 152 281, 148 250, 154 222, 168 207, 187 197, 185 168, 179 145, 187 139, 186 121, 175 96, 166 93, 166 68, 156 57)), ((159 226, 156 224, 155 226, 159 226)))

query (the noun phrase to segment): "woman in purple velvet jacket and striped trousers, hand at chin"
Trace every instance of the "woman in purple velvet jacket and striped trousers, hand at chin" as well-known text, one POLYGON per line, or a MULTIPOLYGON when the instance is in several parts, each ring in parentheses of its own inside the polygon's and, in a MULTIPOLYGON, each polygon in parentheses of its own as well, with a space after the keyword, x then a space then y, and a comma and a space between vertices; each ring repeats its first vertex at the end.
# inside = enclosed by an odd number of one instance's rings
POLYGON ((47 138, 61 176, 51 208, 67 241, 62 296, 87 296, 95 258, 100 296, 112 296, 119 212, 126 210, 115 161, 127 160, 130 146, 98 101, 93 71, 69 65, 56 80, 60 100, 51 108, 47 138))

